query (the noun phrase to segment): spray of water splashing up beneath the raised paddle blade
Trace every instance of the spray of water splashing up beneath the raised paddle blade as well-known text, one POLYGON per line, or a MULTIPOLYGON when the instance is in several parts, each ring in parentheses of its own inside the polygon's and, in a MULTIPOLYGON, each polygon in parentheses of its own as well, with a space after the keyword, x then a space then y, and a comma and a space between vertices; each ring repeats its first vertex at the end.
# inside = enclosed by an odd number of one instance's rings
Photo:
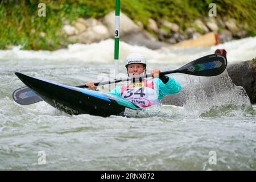
POLYGON ((228 72, 214 77, 187 77, 184 109, 201 117, 254 114, 250 99, 241 86, 233 84, 228 72))

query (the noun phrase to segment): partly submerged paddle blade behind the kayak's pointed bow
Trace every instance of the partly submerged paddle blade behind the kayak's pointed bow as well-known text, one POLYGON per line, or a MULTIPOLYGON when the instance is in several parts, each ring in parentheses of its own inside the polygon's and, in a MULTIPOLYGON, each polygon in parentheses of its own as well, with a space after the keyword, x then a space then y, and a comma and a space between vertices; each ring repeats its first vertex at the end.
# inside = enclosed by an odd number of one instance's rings
POLYGON ((30 105, 42 101, 30 88, 24 86, 13 92, 13 100, 20 105, 30 105))

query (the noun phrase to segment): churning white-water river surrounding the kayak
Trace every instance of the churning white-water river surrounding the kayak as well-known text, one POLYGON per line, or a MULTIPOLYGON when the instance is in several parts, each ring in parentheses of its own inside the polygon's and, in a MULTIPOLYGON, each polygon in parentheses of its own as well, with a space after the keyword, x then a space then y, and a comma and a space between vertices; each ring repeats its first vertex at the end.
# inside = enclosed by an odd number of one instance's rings
MULTIPOLYGON (((120 44, 120 72, 130 52, 152 68, 177 69, 217 48, 228 64, 255 57, 256 38, 208 48, 151 50, 120 44)), ((0 170, 255 170, 256 116, 246 94, 224 75, 173 74, 189 87, 183 107, 154 106, 139 117, 67 115, 46 102, 18 105, 12 93, 24 84, 14 75, 66 85, 111 75, 114 41, 73 44, 57 51, 0 50, 0 170), (39 164, 42 151, 46 164, 39 164), (209 154, 217 155, 216 165, 209 154)), ((253 109, 256 106, 253 105, 253 109)))

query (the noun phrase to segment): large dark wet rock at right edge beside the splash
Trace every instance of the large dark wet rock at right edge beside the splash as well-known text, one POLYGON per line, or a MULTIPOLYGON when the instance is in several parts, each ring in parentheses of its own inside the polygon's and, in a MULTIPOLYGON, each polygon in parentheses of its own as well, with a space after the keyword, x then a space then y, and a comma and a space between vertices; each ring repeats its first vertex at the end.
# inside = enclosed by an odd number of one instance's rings
POLYGON ((229 77, 235 85, 242 86, 252 104, 256 103, 256 61, 228 65, 229 77))

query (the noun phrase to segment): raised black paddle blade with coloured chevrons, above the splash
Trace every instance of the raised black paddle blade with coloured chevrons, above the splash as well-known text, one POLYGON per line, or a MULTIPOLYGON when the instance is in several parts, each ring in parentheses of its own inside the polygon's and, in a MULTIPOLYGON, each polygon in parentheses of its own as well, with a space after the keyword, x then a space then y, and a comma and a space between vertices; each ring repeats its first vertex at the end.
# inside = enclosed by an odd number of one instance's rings
POLYGON ((212 54, 201 57, 177 69, 179 73, 196 76, 217 76, 225 71, 227 60, 224 55, 212 54))

